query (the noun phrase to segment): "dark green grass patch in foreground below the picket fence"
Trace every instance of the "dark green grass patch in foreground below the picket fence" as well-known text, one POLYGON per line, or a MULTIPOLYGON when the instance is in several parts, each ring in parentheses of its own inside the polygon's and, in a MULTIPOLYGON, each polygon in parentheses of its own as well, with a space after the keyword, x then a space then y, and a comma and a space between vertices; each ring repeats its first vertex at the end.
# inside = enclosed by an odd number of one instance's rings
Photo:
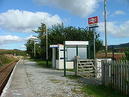
POLYGON ((83 85, 82 91, 93 97, 127 97, 102 85, 83 85))

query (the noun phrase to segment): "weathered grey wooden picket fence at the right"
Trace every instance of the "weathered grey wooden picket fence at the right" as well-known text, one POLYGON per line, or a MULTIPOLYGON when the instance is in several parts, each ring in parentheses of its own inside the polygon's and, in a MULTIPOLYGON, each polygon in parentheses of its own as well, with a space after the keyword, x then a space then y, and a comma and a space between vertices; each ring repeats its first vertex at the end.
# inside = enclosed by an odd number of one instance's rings
POLYGON ((129 95, 129 62, 103 62, 102 82, 129 95))

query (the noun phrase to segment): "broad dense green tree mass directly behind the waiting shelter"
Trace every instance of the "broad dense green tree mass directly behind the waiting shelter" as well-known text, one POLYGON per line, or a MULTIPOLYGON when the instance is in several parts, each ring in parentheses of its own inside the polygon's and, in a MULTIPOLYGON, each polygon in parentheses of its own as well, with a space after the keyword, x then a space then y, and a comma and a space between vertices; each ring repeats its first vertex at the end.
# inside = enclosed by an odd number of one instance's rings
MULTIPOLYGON (((102 41, 99 39, 99 34, 96 35, 96 53, 102 49, 102 41)), ((94 32, 87 28, 76 28, 73 26, 63 27, 62 25, 53 26, 49 30, 50 44, 63 44, 63 41, 89 41, 90 55, 93 58, 93 39, 94 32)))

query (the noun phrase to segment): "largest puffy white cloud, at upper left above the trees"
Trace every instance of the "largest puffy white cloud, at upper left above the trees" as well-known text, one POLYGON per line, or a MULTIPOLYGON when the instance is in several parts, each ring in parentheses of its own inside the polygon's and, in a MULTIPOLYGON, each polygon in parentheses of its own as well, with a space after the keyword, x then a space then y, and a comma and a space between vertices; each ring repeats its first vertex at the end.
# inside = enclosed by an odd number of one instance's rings
POLYGON ((62 19, 58 15, 46 12, 8 10, 0 13, 0 28, 11 32, 32 32, 40 26, 41 22, 50 27, 60 24, 62 19))

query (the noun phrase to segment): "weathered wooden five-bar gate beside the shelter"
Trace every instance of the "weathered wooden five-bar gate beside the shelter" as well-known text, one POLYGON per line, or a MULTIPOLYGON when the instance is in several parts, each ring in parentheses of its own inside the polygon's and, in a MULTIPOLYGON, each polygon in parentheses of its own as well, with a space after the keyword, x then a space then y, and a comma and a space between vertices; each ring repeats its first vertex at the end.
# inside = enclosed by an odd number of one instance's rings
POLYGON ((93 59, 79 59, 75 58, 75 75, 86 78, 96 77, 97 69, 93 59))

